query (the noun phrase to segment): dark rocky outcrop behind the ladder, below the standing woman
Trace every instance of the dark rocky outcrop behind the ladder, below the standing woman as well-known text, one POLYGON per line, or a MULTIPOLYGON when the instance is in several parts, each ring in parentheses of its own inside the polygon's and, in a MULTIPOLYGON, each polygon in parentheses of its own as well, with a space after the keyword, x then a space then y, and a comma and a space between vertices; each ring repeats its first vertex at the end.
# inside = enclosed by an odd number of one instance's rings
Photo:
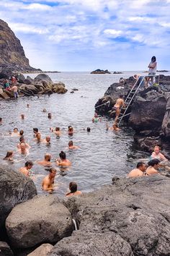
MULTIPOLYGON (((120 94, 125 98, 135 83, 130 77, 122 83, 110 85, 104 97, 96 103, 98 114, 115 117, 112 107, 120 94), (109 103, 107 103, 109 101, 109 103), (105 104, 104 104, 105 103, 105 104), (103 105, 104 104, 104 105, 103 105), (102 105, 102 106, 101 106, 102 105), (98 107, 99 106, 99 107, 98 107)), ((130 116, 125 118, 128 126, 135 130, 135 141, 143 150, 151 151, 154 145, 162 145, 166 150, 170 141, 170 76, 160 75, 159 85, 139 90, 133 104, 128 108, 130 116)), ((169 154, 167 150, 166 155, 169 154)), ((170 157, 170 155, 169 155, 170 157)))

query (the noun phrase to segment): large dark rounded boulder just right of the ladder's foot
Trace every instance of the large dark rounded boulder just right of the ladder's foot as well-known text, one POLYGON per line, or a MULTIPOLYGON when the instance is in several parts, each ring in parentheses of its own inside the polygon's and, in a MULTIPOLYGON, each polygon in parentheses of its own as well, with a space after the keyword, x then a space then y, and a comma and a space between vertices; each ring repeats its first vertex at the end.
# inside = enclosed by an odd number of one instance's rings
POLYGON ((137 132, 150 129, 158 132, 166 111, 167 99, 156 90, 150 90, 143 97, 135 98, 129 124, 137 132))

